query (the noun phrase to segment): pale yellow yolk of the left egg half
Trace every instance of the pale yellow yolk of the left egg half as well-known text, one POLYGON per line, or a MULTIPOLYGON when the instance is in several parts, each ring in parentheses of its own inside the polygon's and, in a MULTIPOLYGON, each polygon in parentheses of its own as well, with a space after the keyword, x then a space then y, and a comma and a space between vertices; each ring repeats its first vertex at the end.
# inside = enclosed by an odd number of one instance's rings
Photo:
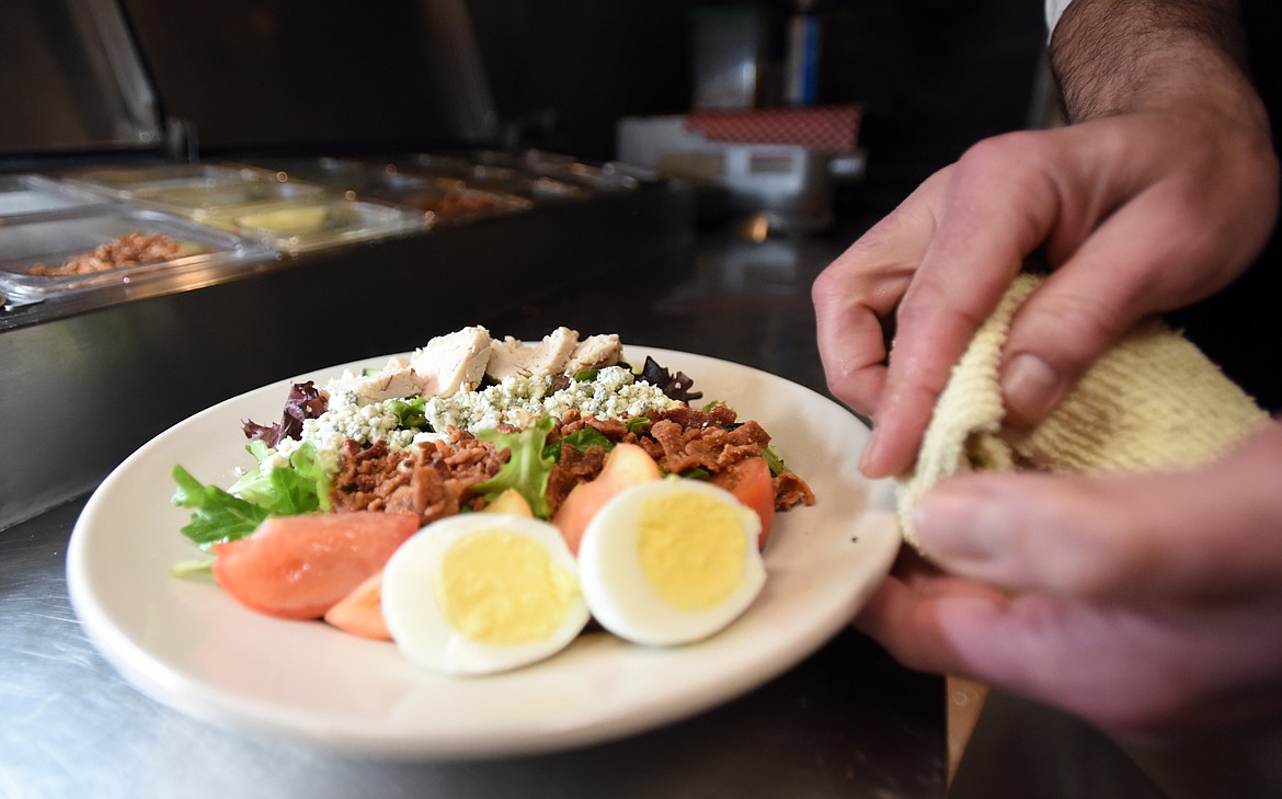
POLYGON ((436 600, 462 635, 517 646, 550 636, 578 594, 574 575, 538 542, 505 530, 455 541, 441 560, 436 600))

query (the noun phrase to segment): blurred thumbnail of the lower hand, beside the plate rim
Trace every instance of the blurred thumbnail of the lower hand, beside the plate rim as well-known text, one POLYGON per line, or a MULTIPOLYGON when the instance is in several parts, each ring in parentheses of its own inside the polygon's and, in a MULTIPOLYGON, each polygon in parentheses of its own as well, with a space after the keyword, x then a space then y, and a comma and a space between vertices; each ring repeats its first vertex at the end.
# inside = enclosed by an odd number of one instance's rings
POLYGON ((947 563, 996 560, 1010 544, 1010 516, 987 498, 932 492, 913 508, 917 540, 931 558, 947 563))

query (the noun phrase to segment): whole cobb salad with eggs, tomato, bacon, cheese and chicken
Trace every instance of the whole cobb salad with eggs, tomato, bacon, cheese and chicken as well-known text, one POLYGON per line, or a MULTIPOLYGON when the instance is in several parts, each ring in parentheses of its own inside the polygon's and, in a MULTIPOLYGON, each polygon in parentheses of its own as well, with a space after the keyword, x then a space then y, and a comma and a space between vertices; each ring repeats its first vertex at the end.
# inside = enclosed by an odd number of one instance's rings
POLYGON ((760 591, 774 513, 815 501, 760 425, 700 400, 617 335, 438 336, 295 383, 279 421, 244 421, 254 466, 226 489, 176 466, 203 554, 174 571, 451 675, 544 659, 590 625, 697 641, 760 591))

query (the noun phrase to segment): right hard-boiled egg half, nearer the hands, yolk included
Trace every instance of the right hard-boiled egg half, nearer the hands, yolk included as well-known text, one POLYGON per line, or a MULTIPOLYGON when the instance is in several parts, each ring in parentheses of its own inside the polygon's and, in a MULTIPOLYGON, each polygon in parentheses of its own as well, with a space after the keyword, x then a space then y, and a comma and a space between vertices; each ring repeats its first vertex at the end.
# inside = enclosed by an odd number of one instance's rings
POLYGON ((667 478, 619 491, 579 542, 579 582, 597 622, 637 644, 720 631, 765 584, 760 517, 718 486, 667 478))

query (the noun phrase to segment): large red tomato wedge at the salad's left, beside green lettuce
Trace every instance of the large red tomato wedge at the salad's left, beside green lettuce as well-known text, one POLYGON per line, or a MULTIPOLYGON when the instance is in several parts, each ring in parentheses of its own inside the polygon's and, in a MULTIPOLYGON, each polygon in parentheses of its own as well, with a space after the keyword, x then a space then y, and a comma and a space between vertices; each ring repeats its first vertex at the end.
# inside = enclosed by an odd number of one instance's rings
POLYGON ((242 605, 281 618, 320 618, 419 528, 413 513, 273 517, 214 548, 214 578, 242 605))

